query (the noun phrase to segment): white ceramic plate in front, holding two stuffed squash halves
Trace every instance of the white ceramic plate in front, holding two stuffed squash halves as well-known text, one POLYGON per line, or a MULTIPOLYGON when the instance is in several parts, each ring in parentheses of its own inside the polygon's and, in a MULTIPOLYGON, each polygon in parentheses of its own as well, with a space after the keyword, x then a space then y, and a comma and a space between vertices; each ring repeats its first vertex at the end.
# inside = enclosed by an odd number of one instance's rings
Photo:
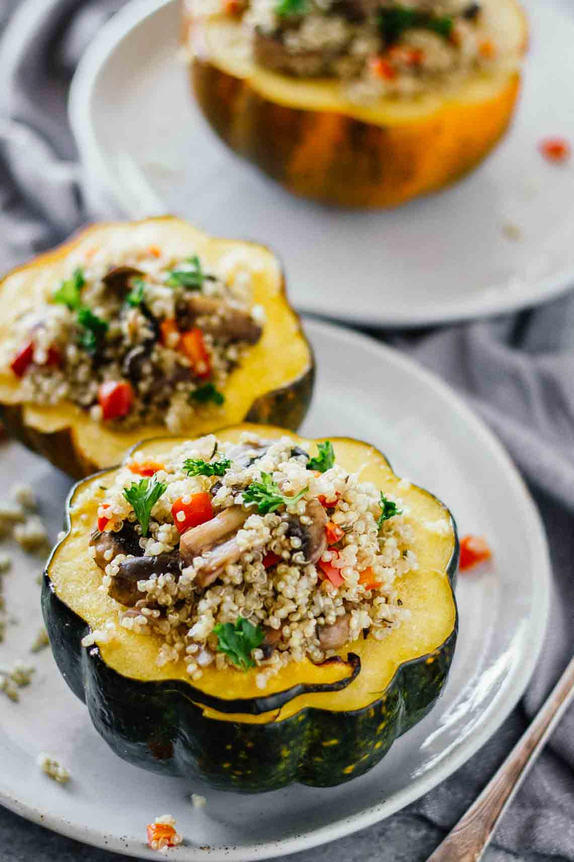
MULTIPOLYGON (((546 626, 549 563, 539 516, 515 467, 460 397, 410 359, 326 324, 307 322, 306 330, 318 385, 303 432, 373 442, 399 475, 452 508, 462 534, 491 541, 494 563, 460 577, 460 639, 441 701, 351 784, 234 796, 117 759, 46 651, 21 703, 0 695, 0 802, 10 809, 79 840, 150 859, 157 856, 145 848, 145 825, 165 812, 176 816, 185 838, 170 851, 173 862, 293 853, 380 821, 431 790, 485 743, 521 696, 546 626), (70 768, 70 784, 40 773, 40 751, 70 768), (192 790, 207 796, 204 809, 192 808, 192 790)), ((0 448, 0 472, 4 488, 14 479, 34 484, 54 537, 70 483, 16 444, 0 448)), ((20 624, 8 628, 0 665, 30 658, 40 625, 39 571, 39 561, 21 554, 3 578, 9 615, 20 624)))

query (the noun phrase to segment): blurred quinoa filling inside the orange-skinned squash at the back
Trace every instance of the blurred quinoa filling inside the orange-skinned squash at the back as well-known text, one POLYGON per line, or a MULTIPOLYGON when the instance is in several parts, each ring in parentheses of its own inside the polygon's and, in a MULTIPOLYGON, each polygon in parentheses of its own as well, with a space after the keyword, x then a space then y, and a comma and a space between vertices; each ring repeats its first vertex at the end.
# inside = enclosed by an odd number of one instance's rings
MULTIPOLYGON (((200 2, 200 0, 198 0, 200 2)), ((253 59, 298 78, 349 82, 350 97, 414 95, 519 61, 497 0, 224 0, 253 59)))

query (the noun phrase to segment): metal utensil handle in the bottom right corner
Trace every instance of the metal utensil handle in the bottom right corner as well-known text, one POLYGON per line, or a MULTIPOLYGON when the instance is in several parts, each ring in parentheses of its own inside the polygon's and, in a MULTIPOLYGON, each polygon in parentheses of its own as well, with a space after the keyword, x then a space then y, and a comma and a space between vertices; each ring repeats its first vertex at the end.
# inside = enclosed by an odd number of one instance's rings
POLYGON ((478 862, 505 810, 574 698, 574 658, 536 718, 428 862, 478 862))

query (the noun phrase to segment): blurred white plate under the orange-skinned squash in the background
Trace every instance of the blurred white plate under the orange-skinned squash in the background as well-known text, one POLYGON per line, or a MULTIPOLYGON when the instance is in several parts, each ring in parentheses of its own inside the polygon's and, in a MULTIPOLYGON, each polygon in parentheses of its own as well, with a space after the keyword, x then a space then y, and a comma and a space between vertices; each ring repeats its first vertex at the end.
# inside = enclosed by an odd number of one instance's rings
POLYGON ((574 4, 524 0, 532 28, 522 103, 497 151, 460 184, 390 212, 291 197, 216 138, 177 58, 177 0, 130 3, 89 47, 71 123, 96 195, 120 215, 169 211, 280 254, 302 310, 370 326, 499 314, 574 284, 574 159, 551 166, 540 139, 574 142, 574 4), (503 234, 517 225, 522 240, 503 234))

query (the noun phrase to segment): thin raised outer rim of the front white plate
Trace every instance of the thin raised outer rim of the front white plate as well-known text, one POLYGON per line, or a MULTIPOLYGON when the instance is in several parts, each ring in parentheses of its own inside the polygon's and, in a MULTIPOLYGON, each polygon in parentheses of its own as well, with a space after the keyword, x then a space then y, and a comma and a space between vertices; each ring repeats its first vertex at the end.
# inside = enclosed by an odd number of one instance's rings
MULTIPOLYGON (((474 728, 472 736, 466 737, 466 740, 463 740, 453 753, 449 753, 439 765, 430 769, 423 777, 417 778, 408 788, 399 791, 381 803, 373 805, 360 814, 336 819, 327 826, 295 835, 293 838, 287 840, 277 842, 267 841, 263 843, 255 842, 251 845, 239 847, 210 846, 206 849, 201 849, 199 846, 182 845, 170 851, 170 859, 173 862, 195 862, 197 859, 205 859, 206 857, 221 860, 221 862, 224 862, 226 859, 236 860, 236 862, 250 862, 252 859, 268 859, 274 856, 287 855, 288 853, 297 853, 298 851, 336 840, 344 835, 372 826, 374 823, 403 809, 406 805, 414 802, 451 775, 467 759, 472 757, 472 754, 476 753, 490 739, 491 735, 496 732, 510 711, 514 709, 515 704, 526 689, 528 680, 534 671, 534 666, 540 655, 546 633, 551 581, 551 566, 546 534, 540 521, 540 515, 526 484, 495 434, 487 428, 485 422, 472 412, 472 409, 466 405, 464 400, 450 386, 442 382, 440 378, 437 378, 434 373, 424 369, 413 359, 404 356, 402 353, 398 353, 392 347, 386 347, 368 338, 366 335, 357 334, 349 329, 340 328, 330 323, 307 320, 305 326, 311 337, 313 333, 324 334, 325 336, 336 338, 342 346, 345 344, 354 344, 370 354, 373 361, 382 362, 391 368, 395 366, 407 372, 411 377, 418 378, 430 392, 434 391, 440 395, 450 408, 460 415, 462 420, 466 422, 469 430, 475 435, 477 444, 485 447, 491 453, 491 458, 497 462, 501 474, 503 474, 509 486, 515 490, 517 498, 522 501, 520 509, 516 512, 516 517, 523 519, 528 524, 531 534, 532 565, 537 572, 537 578, 533 582, 533 614, 529 620, 528 650, 522 656, 523 660, 520 667, 517 670, 515 669, 511 684, 507 685, 493 699, 488 709, 482 715, 482 721, 477 723, 477 726, 474 728)), ((49 812, 42 813, 34 806, 14 799, 10 796, 9 790, 2 785, 0 785, 0 802, 6 808, 28 818, 30 821, 39 823, 41 826, 51 828, 55 832, 65 834, 84 843, 100 846, 116 853, 136 855, 139 858, 145 859, 157 859, 157 853, 145 848, 141 844, 136 845, 131 840, 122 840, 116 836, 107 835, 102 833, 101 830, 91 828, 89 824, 78 828, 77 824, 70 823, 65 818, 52 816, 49 812)))

